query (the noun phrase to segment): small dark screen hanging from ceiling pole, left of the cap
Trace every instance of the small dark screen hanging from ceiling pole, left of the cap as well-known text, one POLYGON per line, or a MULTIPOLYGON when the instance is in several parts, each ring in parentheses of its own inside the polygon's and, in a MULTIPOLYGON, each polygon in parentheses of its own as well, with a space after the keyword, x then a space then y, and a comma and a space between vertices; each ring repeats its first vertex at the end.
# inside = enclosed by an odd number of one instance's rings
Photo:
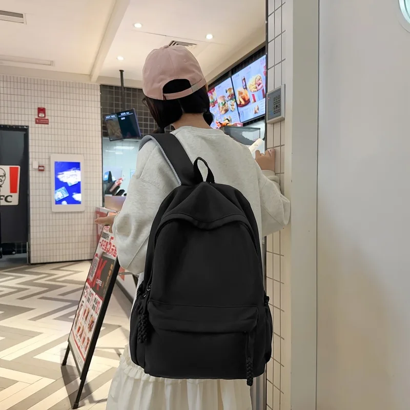
POLYGON ((135 110, 126 110, 105 116, 108 136, 111 141, 141 136, 135 110))

